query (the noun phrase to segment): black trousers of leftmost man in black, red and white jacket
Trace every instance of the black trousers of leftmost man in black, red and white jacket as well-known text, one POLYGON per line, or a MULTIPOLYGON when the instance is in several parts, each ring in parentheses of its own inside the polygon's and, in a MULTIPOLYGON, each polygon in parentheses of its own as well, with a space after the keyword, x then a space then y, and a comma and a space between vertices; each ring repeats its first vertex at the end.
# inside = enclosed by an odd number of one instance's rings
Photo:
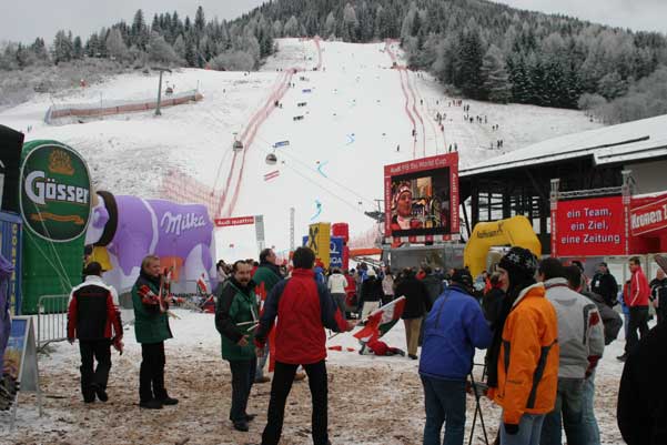
POLYGON ((95 386, 107 390, 109 371, 111 370, 110 340, 79 340, 81 352, 81 394, 84 400, 95 396, 95 386), (94 361, 98 366, 94 367, 94 361), (94 367, 94 368, 93 368, 94 367))

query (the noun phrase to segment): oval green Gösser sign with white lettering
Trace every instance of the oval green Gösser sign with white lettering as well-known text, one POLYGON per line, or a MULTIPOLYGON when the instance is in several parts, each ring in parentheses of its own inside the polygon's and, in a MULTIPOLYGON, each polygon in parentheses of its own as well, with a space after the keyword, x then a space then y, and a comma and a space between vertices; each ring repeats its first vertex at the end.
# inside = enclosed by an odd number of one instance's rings
MULTIPOLYGON (((29 145, 29 144, 27 144, 29 145)), ((21 214, 38 236, 67 242, 81 236, 91 213, 90 173, 79 153, 41 142, 21 165, 21 214)))

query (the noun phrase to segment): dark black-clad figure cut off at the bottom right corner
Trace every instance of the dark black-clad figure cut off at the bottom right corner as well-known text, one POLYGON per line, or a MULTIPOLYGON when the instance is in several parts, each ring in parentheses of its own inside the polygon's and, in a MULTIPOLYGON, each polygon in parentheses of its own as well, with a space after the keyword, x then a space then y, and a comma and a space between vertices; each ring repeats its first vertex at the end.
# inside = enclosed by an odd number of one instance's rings
POLYGON ((616 417, 628 445, 667 444, 667 323, 649 331, 630 352, 618 390, 616 417))

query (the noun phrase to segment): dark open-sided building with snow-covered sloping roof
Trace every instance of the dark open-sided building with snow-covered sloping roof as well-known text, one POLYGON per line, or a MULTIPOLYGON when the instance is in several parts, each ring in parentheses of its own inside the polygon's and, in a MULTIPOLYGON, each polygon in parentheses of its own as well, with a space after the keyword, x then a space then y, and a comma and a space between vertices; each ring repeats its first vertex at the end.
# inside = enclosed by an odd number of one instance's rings
POLYGON ((667 114, 550 139, 462 169, 463 225, 469 236, 477 222, 525 215, 549 253, 552 180, 560 180, 563 192, 612 195, 626 170, 634 196, 667 190, 667 114))

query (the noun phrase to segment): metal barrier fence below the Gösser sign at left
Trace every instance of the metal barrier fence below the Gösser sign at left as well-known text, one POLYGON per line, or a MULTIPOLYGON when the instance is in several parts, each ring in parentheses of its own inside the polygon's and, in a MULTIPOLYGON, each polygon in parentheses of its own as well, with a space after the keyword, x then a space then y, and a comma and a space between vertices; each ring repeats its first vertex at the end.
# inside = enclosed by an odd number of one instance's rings
POLYGON ((37 304, 37 350, 68 338, 69 295, 42 295, 37 304))

